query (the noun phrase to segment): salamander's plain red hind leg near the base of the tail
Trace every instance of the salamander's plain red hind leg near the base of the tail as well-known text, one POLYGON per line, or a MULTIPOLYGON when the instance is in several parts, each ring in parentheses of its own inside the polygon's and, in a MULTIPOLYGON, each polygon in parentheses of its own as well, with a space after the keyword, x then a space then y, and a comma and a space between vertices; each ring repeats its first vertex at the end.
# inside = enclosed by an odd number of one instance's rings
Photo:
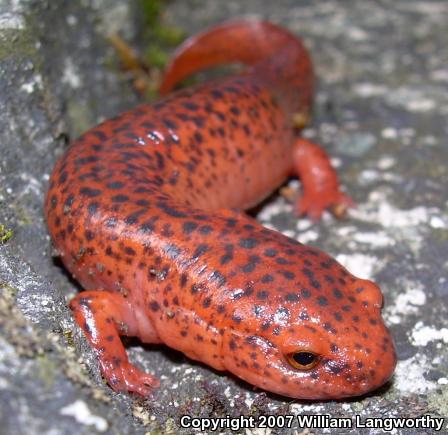
POLYGON ((307 139, 297 139, 293 149, 294 172, 303 185, 303 197, 297 202, 300 215, 318 220, 323 211, 331 209, 336 217, 344 216, 352 199, 339 190, 336 171, 319 145, 307 139))

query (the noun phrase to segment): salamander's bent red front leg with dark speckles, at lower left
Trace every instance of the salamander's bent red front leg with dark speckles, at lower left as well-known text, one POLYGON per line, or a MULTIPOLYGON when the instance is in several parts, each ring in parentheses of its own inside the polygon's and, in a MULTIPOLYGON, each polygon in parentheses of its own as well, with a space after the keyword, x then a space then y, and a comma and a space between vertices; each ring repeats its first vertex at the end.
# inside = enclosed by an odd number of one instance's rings
POLYGON ((84 291, 70 302, 76 323, 95 349, 101 373, 115 391, 148 396, 159 381, 128 360, 120 335, 139 335, 135 313, 118 293, 84 291))

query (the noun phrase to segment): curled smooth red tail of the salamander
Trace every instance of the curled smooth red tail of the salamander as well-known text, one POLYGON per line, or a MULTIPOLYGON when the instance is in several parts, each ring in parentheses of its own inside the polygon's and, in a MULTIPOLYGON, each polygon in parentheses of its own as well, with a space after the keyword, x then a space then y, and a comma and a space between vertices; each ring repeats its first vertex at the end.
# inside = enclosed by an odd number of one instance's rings
POLYGON ((311 59, 301 41, 275 24, 250 19, 228 21, 188 38, 174 53, 159 91, 165 95, 197 71, 234 62, 260 67, 264 77, 286 81, 289 92, 299 86, 302 97, 311 98, 311 59))

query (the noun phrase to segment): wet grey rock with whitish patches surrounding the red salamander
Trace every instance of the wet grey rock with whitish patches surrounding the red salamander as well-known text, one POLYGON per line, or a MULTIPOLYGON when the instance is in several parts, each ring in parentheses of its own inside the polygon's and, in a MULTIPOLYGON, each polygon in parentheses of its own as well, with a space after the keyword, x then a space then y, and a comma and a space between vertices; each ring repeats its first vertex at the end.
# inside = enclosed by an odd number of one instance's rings
MULTIPOLYGON (((182 414, 447 416, 448 4, 189 0, 165 6, 165 19, 189 34, 234 16, 263 17, 300 34, 311 50, 319 89, 304 135, 334 156, 357 208, 346 220, 325 216, 314 224, 295 219, 277 194, 257 215, 374 279, 399 357, 389 385, 328 403, 265 395, 137 341, 129 343, 131 359, 162 381, 154 400, 115 394, 101 381, 66 308, 78 288, 52 256, 42 203, 67 143, 138 102, 105 39, 117 29, 139 46, 133 26, 139 6, 123 4, 0 4, 0 224, 13 230, 0 243, 2 433, 180 433, 182 414)), ((271 433, 277 432, 291 430, 271 433)))

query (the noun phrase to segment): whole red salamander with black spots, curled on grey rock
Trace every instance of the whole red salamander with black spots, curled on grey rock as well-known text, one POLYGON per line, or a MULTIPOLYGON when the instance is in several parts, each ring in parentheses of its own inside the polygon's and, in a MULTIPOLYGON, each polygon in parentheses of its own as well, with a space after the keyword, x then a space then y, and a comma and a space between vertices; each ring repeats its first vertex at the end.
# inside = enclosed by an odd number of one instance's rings
POLYGON ((108 120, 57 162, 48 227, 86 290, 70 307, 116 391, 158 386, 128 361, 129 335, 285 396, 363 394, 395 366, 378 287, 238 211, 290 175, 303 182, 301 213, 349 204, 326 154, 294 134, 313 89, 302 44, 270 23, 223 24, 184 44, 162 91, 235 59, 252 66, 108 120), (297 352, 315 366, 291 365, 297 352))

